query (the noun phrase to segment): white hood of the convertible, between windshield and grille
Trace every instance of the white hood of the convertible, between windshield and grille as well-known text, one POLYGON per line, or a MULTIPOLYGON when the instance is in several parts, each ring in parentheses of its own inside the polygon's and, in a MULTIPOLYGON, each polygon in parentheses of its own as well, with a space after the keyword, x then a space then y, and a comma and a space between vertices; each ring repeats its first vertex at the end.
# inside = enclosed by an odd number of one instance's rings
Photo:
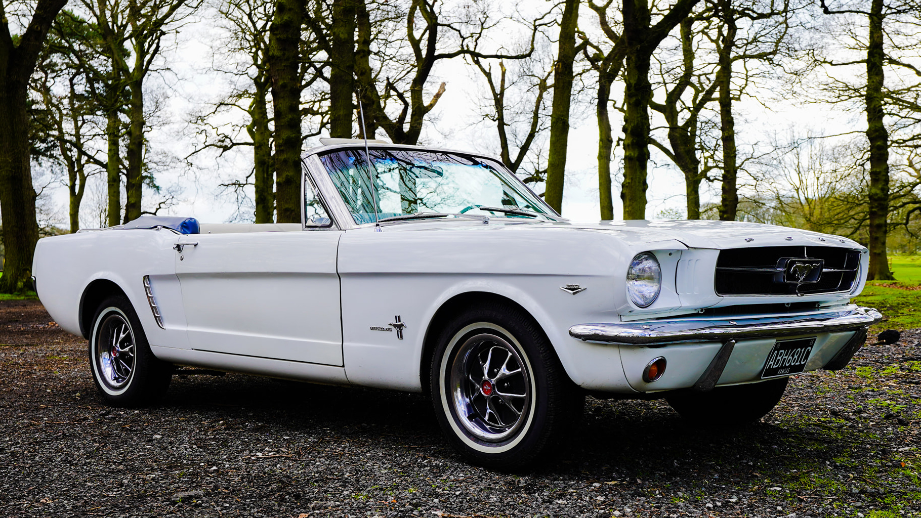
POLYGON ((484 232, 599 232, 637 247, 679 241, 692 248, 834 246, 864 249, 852 239, 773 224, 717 220, 628 220, 600 222, 532 222, 494 218, 489 224, 467 221, 415 221, 387 224, 385 232, 475 230, 484 232))

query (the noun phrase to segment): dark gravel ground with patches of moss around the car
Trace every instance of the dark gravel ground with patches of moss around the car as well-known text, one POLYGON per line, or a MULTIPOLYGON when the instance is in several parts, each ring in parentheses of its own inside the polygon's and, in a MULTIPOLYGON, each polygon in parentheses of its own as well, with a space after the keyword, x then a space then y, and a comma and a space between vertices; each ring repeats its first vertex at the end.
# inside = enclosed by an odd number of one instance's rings
POLYGON ((740 431, 589 398, 560 461, 509 474, 464 464, 418 395, 192 375, 111 409, 84 340, 0 302, 0 515, 921 516, 919 340, 797 377, 740 431))

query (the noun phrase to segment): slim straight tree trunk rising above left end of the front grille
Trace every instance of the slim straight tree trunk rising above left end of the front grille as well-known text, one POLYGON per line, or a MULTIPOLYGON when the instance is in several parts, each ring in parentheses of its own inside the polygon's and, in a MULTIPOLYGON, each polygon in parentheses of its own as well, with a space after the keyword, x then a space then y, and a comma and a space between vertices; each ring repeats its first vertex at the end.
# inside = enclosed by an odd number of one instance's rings
POLYGON ((720 141, 723 144, 723 191, 719 203, 719 219, 724 221, 735 221, 739 208, 736 121, 732 116, 732 51, 736 42, 736 18, 732 13, 730 1, 719 0, 720 15, 726 32, 720 35, 717 71, 720 141))

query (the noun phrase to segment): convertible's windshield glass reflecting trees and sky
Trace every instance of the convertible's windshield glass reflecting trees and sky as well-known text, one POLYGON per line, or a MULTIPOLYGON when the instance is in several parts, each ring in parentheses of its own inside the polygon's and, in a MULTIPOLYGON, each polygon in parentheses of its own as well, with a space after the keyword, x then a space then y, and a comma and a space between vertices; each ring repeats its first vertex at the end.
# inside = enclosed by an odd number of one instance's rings
POLYGON ((505 168, 472 156, 371 149, 375 191, 369 189, 365 150, 321 155, 332 183, 357 224, 416 213, 471 213, 510 218, 555 214, 505 168))

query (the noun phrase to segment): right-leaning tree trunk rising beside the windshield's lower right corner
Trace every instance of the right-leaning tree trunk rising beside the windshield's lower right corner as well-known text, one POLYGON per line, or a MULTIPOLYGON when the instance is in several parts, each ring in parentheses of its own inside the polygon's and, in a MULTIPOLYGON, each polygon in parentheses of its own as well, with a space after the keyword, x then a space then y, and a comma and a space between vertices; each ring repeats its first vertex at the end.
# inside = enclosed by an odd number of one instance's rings
POLYGON ((563 213, 566 147, 569 144, 569 105, 572 102, 573 61, 576 59, 576 28, 579 0, 565 0, 560 20, 559 50, 554 63, 554 101, 550 113, 550 148, 547 186, 543 200, 563 213))

